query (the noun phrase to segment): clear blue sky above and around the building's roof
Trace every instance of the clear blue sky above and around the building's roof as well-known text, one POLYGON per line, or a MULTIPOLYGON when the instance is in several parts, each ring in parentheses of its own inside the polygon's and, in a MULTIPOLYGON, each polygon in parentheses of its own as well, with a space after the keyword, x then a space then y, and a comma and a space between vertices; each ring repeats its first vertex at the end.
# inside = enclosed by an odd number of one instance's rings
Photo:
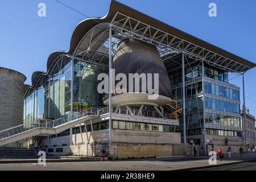
MULTIPOLYGON (((60 0, 88 16, 104 16, 109 0, 60 0)), ((234 0, 119 0, 134 9, 256 62, 256 1, 234 0), (217 4, 217 17, 208 16, 210 2, 217 4)), ((85 16, 54 0, 1 0, 0 67, 27 76, 46 70, 49 53, 69 49, 73 28, 85 16), (38 4, 46 3, 46 17, 38 16, 38 4)), ((230 75, 230 78, 233 75, 230 75)), ((256 68, 245 75, 246 106, 256 115, 256 68), (249 100, 250 98, 250 100, 249 100), (254 100, 254 101, 251 101, 254 100)), ((242 88, 242 77, 232 81, 242 88)), ((242 92, 241 92, 242 93, 242 92)), ((242 98, 242 96, 241 96, 242 98)))

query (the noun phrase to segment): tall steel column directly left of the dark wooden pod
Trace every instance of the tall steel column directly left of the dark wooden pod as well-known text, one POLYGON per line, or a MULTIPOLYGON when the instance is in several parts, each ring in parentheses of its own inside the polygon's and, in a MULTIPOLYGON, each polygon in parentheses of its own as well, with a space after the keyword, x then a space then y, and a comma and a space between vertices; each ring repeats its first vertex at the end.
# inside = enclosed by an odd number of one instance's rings
POLYGON ((109 143, 112 142, 112 24, 109 27, 109 143))

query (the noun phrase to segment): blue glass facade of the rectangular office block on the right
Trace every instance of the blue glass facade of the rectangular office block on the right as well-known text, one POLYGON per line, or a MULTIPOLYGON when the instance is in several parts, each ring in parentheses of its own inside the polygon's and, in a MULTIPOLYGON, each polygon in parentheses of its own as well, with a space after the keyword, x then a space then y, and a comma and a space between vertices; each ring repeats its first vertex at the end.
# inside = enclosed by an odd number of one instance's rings
MULTIPOLYGON (((197 63, 198 64, 198 63, 197 63)), ((207 129, 208 135, 234 136, 237 131, 232 127, 241 127, 239 88, 228 84, 228 72, 213 68, 205 63, 204 82, 201 65, 185 68, 185 108, 187 135, 201 135, 206 125, 229 127, 225 130, 207 129), (193 72, 192 72, 193 70, 193 72), (204 100, 203 100, 204 98, 204 100), (203 111, 205 110, 205 115, 203 111)), ((174 100, 182 106, 182 71, 170 73, 174 100)), ((177 131, 183 136, 183 116, 179 117, 177 131)), ((201 139, 199 139, 201 140, 201 139)))

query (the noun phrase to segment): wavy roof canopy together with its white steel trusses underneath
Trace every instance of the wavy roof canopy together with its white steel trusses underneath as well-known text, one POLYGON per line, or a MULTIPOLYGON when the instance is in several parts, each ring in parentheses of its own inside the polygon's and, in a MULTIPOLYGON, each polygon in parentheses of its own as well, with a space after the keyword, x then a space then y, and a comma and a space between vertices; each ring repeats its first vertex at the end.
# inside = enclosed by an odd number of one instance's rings
MULTIPOLYGON (((69 51, 52 52, 48 57, 47 71, 34 72, 32 85, 42 75, 49 76, 55 64, 59 64, 61 55, 108 67, 110 26, 112 26, 112 55, 120 40, 134 38, 154 44, 163 61, 168 63, 173 61, 172 57, 184 52, 191 61, 204 60, 213 67, 238 74, 256 65, 119 2, 111 1, 106 16, 85 19, 77 24, 69 51)), ((177 67, 177 64, 174 65, 177 67)))

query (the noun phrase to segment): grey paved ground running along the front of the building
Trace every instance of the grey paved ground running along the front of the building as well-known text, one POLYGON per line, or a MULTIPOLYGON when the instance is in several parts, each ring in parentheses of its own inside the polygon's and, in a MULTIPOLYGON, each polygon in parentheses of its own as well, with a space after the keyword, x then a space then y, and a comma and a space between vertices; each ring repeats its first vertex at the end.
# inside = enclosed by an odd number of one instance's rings
MULTIPOLYGON (((113 160, 106 162, 63 162, 47 163, 44 167, 37 163, 0 164, 0 170, 102 170, 102 171, 148 171, 148 170, 180 170, 213 167, 208 163, 209 156, 182 157, 182 158, 154 158, 139 160, 113 160)), ((217 165, 236 164, 243 160, 256 160, 256 153, 233 154, 231 159, 217 160, 217 165)))

